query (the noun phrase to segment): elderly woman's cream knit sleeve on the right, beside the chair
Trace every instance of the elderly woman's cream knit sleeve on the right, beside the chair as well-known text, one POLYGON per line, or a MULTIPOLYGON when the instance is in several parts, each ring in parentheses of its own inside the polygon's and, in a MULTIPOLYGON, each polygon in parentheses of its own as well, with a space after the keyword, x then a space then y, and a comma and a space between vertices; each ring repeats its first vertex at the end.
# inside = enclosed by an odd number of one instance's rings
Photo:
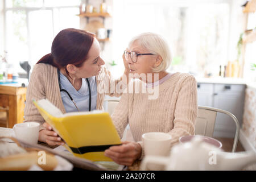
POLYGON ((181 83, 174 112, 174 128, 169 132, 172 146, 184 135, 195 134, 197 118, 197 83, 195 77, 187 76, 181 83))

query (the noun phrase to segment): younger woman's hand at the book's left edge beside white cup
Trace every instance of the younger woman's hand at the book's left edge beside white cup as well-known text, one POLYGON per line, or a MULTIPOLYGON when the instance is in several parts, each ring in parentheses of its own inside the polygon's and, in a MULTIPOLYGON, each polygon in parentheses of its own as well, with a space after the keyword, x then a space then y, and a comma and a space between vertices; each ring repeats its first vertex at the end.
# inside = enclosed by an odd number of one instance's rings
POLYGON ((47 143, 49 146, 63 145, 64 141, 58 136, 55 131, 52 131, 52 127, 48 123, 43 123, 43 127, 46 129, 39 132, 39 141, 47 143))

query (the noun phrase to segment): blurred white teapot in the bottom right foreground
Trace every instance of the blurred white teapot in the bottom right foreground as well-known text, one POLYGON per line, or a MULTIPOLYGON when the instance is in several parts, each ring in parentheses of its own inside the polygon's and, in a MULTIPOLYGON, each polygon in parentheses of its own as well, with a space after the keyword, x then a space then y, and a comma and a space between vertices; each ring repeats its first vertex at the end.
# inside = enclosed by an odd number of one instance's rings
POLYGON ((179 143, 172 147, 170 156, 146 156, 141 169, 147 165, 162 164, 167 171, 173 170, 241 170, 256 162, 256 152, 224 152, 212 144, 195 137, 191 142, 179 143))

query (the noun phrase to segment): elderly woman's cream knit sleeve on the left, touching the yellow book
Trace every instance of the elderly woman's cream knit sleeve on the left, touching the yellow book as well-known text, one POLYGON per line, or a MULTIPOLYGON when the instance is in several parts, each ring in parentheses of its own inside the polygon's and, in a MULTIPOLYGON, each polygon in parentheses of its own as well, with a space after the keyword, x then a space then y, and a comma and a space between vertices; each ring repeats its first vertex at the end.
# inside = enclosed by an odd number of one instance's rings
POLYGON ((123 137, 123 131, 128 125, 128 113, 129 113, 129 94, 123 93, 121 100, 115 107, 113 114, 111 115, 115 129, 117 129, 120 138, 123 137))

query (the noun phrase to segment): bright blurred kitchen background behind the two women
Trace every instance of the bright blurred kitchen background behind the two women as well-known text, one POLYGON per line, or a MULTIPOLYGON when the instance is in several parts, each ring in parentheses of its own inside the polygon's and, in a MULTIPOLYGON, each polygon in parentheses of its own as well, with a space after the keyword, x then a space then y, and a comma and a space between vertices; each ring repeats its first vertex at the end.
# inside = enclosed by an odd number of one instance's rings
MULTIPOLYGON (((194 75, 198 104, 236 115, 243 147, 255 148, 255 10, 255 0, 0 0, 0 84, 20 86, 64 28, 94 32, 115 78, 130 39, 155 32, 171 49, 168 72, 194 75)), ((217 120, 214 136, 232 138, 232 121, 217 120)))

